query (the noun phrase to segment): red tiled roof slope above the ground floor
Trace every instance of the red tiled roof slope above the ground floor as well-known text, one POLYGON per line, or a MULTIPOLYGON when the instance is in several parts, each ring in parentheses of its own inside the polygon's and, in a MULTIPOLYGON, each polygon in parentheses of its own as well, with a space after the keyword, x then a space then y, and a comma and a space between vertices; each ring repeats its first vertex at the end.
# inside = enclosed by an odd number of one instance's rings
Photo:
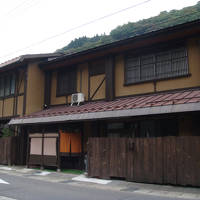
POLYGON ((73 115, 82 113, 98 113, 105 111, 129 110, 148 107, 161 107, 167 105, 179 105, 200 102, 200 88, 185 89, 148 95, 139 95, 126 98, 118 98, 114 101, 86 102, 80 106, 55 106, 40 112, 23 117, 45 118, 62 115, 73 115))

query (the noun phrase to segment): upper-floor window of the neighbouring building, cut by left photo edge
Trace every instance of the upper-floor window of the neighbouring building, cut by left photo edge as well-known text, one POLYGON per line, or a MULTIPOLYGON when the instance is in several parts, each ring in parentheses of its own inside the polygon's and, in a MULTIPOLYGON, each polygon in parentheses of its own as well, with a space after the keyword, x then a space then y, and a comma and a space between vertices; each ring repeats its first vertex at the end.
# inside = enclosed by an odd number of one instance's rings
POLYGON ((16 77, 14 74, 0 76, 0 97, 7 97, 15 94, 16 77))

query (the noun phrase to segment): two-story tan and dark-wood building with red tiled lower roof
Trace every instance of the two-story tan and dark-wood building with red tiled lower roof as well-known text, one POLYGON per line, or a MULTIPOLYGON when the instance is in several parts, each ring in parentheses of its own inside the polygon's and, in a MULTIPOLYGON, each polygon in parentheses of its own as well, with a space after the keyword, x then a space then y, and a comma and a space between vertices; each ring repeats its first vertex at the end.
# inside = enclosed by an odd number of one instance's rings
POLYGON ((87 153, 90 176, 200 185, 200 20, 40 70, 44 109, 9 123, 29 133, 28 164, 76 167, 87 153), (74 93, 84 94, 79 106, 74 93))

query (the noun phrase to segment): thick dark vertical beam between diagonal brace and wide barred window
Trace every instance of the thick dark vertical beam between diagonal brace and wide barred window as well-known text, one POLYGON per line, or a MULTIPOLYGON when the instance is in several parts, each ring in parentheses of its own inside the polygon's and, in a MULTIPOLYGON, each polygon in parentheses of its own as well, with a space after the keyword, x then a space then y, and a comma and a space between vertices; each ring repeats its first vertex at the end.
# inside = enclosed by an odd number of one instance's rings
POLYGON ((110 55, 106 57, 105 69, 106 69, 106 100, 112 101, 115 98, 114 56, 110 55))

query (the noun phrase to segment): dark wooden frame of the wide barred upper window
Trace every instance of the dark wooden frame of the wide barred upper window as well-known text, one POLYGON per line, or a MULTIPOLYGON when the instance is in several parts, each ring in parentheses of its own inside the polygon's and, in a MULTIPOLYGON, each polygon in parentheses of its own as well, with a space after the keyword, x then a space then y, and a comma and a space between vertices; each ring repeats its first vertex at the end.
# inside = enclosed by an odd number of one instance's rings
MULTIPOLYGON (((170 60, 170 65, 172 65, 172 58, 169 59, 170 60)), ((166 60, 166 61, 169 61, 166 60)), ((175 59, 174 59, 175 60, 175 59)), ((175 79, 175 78, 181 78, 181 77, 188 77, 191 76, 191 74, 189 73, 189 60, 188 60, 188 50, 187 50, 187 46, 185 44, 175 44, 174 46, 170 46, 170 47, 162 47, 162 46, 158 46, 157 48, 148 48, 148 49, 144 49, 143 51, 137 51, 136 53, 132 53, 132 52, 127 52, 124 55, 124 86, 128 86, 128 85, 136 85, 136 84, 141 84, 141 83, 147 83, 147 82, 154 82, 154 81, 161 81, 161 80, 169 80, 169 79, 175 79), (159 75, 156 73, 158 67, 157 65, 163 61, 157 61, 156 60, 156 56, 158 56, 159 54, 164 54, 167 51, 170 51, 170 55, 172 55, 172 52, 178 50, 178 49, 184 49, 184 53, 185 56, 184 57, 179 57, 178 59, 186 59, 186 73, 184 74, 177 74, 177 75, 173 75, 173 73, 168 74, 168 76, 165 77, 159 77, 159 75), (153 55, 154 57, 154 77, 149 78, 149 79, 141 79, 141 57, 145 57, 145 56, 149 56, 149 55, 153 55), (127 70, 128 70, 128 66, 127 66, 127 62, 128 59, 130 58, 137 58, 139 57, 139 73, 140 73, 140 80, 138 81, 132 81, 129 82, 127 79, 127 70)))

